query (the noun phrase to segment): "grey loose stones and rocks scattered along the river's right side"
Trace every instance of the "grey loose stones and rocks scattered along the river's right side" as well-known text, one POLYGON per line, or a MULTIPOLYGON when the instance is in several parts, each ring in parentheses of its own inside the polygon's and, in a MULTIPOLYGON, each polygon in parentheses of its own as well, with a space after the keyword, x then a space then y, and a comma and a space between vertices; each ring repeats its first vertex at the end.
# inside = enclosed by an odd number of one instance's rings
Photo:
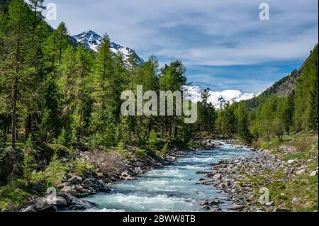
MULTIPOLYGON (((233 141, 231 144, 235 145, 233 141)), ((218 145, 215 144, 215 145, 218 145)), ((241 146, 235 146, 240 148, 241 146)), ((270 174, 276 174, 281 172, 284 174, 280 179, 272 176, 267 176, 265 186, 272 183, 288 183, 293 181, 295 176, 302 174, 310 174, 310 176, 318 175, 317 170, 307 171, 306 163, 298 160, 284 161, 278 155, 271 154, 268 149, 251 149, 254 152, 252 157, 237 157, 231 160, 220 160, 218 164, 213 164, 211 171, 198 172, 198 174, 204 174, 204 178, 201 179, 201 184, 206 186, 213 186, 218 189, 218 192, 224 196, 228 196, 228 199, 233 202, 233 207, 230 210, 240 212, 289 212, 291 209, 286 208, 284 205, 276 205, 274 200, 262 199, 262 203, 259 203, 259 196, 267 191, 267 188, 262 188, 260 191, 256 190, 250 180, 247 178, 259 180, 259 176, 264 172, 270 174), (266 190, 265 190, 266 189, 266 190)), ((289 154, 296 152, 291 146, 279 146, 279 150, 283 154, 289 154)), ((315 159, 312 159, 315 160, 315 159)), ((308 159, 311 162, 311 159, 308 159)), ((281 193, 281 196, 285 196, 281 193)), ((264 196, 266 197, 266 196, 264 196)), ((293 198, 292 203, 300 202, 300 199, 293 198)), ((204 200, 201 205, 203 209, 211 209, 212 211, 218 211, 218 205, 220 200, 204 200)))

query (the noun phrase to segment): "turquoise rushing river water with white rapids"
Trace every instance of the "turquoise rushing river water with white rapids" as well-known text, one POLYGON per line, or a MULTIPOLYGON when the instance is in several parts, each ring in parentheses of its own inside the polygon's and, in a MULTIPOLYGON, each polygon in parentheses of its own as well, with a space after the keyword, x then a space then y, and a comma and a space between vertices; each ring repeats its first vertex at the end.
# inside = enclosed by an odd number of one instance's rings
POLYGON ((210 171, 209 164, 220 159, 249 156, 248 149, 235 149, 233 145, 220 146, 209 151, 189 152, 179 162, 162 169, 149 171, 133 181, 121 181, 111 186, 110 193, 99 193, 84 198, 99 205, 90 211, 135 211, 135 212, 183 212, 203 211, 199 203, 219 198, 224 203, 220 208, 227 211, 231 203, 217 193, 213 186, 205 186, 198 181, 203 174, 197 171, 210 171))

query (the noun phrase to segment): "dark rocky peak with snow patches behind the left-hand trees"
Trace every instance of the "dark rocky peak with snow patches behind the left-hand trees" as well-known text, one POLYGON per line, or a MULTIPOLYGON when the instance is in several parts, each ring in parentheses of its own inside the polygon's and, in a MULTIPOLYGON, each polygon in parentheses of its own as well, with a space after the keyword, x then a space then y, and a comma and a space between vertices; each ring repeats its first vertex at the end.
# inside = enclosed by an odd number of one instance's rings
MULTIPOLYGON (((95 33, 93 30, 84 31, 79 33, 78 35, 73 35, 72 38, 77 40, 77 42, 82 43, 85 47, 90 48, 94 52, 98 52, 98 47, 101 43, 102 37, 95 33)), ((124 56, 124 60, 128 60, 130 55, 132 55, 133 50, 128 47, 123 47, 122 45, 118 45, 116 43, 111 43, 111 50, 114 54, 121 52, 124 56)), ((144 60, 141 57, 137 57, 138 64, 144 64, 144 60)))

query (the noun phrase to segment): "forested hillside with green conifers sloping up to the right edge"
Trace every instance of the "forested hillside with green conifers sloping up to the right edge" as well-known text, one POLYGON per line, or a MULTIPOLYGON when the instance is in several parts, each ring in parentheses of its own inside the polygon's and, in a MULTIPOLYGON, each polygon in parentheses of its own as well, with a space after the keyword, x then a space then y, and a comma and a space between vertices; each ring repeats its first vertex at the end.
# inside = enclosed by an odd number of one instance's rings
POLYGON ((224 134, 238 135, 246 142, 260 137, 318 130, 318 45, 301 69, 248 101, 225 106, 220 115, 224 134))

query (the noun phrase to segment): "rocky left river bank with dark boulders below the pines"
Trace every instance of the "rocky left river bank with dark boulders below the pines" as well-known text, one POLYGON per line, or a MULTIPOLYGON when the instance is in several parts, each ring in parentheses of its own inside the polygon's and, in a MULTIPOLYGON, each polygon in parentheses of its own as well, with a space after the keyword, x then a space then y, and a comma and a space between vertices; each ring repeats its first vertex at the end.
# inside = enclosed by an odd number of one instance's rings
POLYGON ((147 154, 140 156, 136 154, 137 149, 137 147, 127 147, 125 152, 121 153, 122 155, 125 154, 125 158, 121 158, 116 150, 111 150, 109 152, 111 156, 108 154, 106 157, 105 152, 92 154, 91 151, 76 149, 75 157, 79 162, 94 163, 101 168, 103 168, 105 162, 113 162, 113 166, 107 166, 108 168, 106 169, 85 170, 80 175, 65 174, 60 185, 57 188, 53 188, 58 191, 55 196, 34 196, 21 208, 18 208, 18 211, 43 212, 94 208, 96 207, 95 203, 82 198, 96 193, 108 193, 111 191, 109 186, 113 183, 133 180, 136 176, 145 174, 147 171, 172 164, 190 151, 190 149, 182 147, 171 147, 162 156, 150 156, 147 154))

